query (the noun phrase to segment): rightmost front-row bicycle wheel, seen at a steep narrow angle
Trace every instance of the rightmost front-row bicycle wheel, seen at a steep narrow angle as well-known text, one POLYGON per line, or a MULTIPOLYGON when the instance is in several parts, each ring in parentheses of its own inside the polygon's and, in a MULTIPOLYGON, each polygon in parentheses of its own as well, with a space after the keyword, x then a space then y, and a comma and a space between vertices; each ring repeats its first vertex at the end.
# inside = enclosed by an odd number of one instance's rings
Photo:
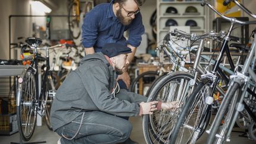
MULTIPOLYGON (((229 86, 228 92, 226 93, 222 101, 222 104, 220 105, 219 111, 217 111, 213 124, 210 128, 210 134, 207 139, 207 143, 214 143, 216 141, 218 141, 219 143, 225 142, 227 138, 226 133, 233 119, 236 100, 238 99, 238 97, 234 96, 236 92, 239 92, 239 84, 234 82, 233 85, 229 86), (232 103, 231 103, 231 100, 232 100, 232 103), (226 114, 226 119, 222 124, 222 126, 220 127, 221 121, 223 120, 223 117, 225 116, 225 114, 226 114), (223 136, 222 139, 217 139, 215 137, 218 131, 219 131, 219 135, 223 136)), ((236 93, 236 95, 239 95, 239 94, 236 93)))

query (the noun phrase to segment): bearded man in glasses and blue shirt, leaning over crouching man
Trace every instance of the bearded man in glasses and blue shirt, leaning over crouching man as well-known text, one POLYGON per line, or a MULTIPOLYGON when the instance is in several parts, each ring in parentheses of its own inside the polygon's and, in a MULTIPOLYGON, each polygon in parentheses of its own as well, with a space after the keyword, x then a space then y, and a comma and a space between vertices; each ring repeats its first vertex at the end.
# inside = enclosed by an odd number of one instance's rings
MULTIPOLYGON (((82 46, 85 54, 101 52, 105 43, 121 43, 132 49, 127 59, 132 62, 136 48, 140 45, 145 28, 139 6, 140 0, 112 0, 110 4, 100 4, 88 12, 82 25, 82 46), (128 39, 124 37, 127 31, 128 39)), ((127 67, 126 67, 127 69, 127 67)), ((130 87, 130 77, 125 71, 117 80, 121 88, 130 87)))

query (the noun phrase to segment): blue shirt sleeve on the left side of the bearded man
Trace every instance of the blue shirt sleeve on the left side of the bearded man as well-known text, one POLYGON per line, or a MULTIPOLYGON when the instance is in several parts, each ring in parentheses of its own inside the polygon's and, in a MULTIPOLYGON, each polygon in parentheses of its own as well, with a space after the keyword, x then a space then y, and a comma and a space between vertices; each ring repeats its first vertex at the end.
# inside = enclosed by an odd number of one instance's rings
POLYGON ((100 23, 101 15, 97 9, 93 9, 85 15, 84 23, 82 24, 82 46, 85 48, 93 47, 98 37, 98 24, 100 23))

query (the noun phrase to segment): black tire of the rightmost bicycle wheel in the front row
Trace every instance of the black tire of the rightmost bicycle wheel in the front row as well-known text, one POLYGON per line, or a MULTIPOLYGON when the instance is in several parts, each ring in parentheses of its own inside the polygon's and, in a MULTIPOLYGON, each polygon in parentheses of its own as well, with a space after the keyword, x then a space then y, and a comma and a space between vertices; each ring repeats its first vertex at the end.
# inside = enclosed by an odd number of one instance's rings
MULTIPOLYGON (((212 123, 209 137, 207 139, 207 143, 215 142, 215 135, 216 135, 217 131, 219 130, 219 126, 222 121, 222 118, 224 117, 224 115, 228 109, 228 106, 231 103, 233 95, 235 94, 236 90, 239 89, 239 84, 237 82, 234 82, 233 85, 229 86, 229 88, 230 89, 228 89, 228 92, 226 92, 226 95, 222 101, 222 104, 220 105, 219 111, 217 111, 215 120, 212 123)), ((229 123, 230 123, 230 121, 229 121, 229 123)), ((223 126, 224 126, 224 124, 223 124, 223 126)))

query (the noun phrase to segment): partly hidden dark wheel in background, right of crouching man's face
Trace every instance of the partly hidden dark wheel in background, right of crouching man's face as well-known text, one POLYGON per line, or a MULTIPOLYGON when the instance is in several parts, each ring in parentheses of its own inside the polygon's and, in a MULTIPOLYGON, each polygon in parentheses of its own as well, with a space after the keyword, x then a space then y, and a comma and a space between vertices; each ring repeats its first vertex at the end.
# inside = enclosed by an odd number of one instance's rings
MULTIPOLYGON (((143 80, 146 80, 146 78, 149 78, 148 81, 153 81, 154 79, 156 79, 158 77, 158 74, 159 73, 156 71, 148 71, 148 72, 141 73, 139 76, 137 76, 137 78, 135 78, 132 81, 132 84, 130 86, 130 91, 143 95, 143 91, 136 90, 136 87, 140 87, 140 85, 139 85, 140 79, 142 79, 142 81, 143 81, 143 80)), ((143 83, 144 83, 144 81, 143 81, 143 83)))

